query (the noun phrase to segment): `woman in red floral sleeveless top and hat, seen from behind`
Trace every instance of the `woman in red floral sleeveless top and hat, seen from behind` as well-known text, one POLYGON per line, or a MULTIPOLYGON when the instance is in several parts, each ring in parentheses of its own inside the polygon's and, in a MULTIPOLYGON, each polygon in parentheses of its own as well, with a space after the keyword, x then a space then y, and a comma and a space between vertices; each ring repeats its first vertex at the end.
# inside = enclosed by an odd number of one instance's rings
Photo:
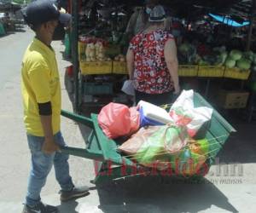
POLYGON ((172 34, 164 30, 165 10, 158 5, 149 16, 149 26, 132 38, 127 51, 127 69, 136 90, 136 103, 155 105, 172 102, 180 92, 177 48, 172 34))

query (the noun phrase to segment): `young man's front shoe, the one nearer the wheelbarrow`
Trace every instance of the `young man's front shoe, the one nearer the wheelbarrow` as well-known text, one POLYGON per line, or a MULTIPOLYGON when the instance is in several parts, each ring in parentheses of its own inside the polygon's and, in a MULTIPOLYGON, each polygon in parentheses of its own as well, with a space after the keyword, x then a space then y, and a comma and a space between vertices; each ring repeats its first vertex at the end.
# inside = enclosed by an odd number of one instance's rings
POLYGON ((71 191, 61 190, 61 201, 65 202, 70 199, 78 199, 89 194, 89 187, 73 187, 71 191))

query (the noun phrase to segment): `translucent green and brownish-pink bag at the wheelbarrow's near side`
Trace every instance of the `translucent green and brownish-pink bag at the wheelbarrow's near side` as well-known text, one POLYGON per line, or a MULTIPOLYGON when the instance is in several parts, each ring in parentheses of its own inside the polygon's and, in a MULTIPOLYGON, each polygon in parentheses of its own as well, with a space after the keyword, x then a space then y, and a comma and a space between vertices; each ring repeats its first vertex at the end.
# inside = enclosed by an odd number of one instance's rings
POLYGON ((119 151, 131 155, 139 164, 147 167, 154 167, 156 164, 158 169, 164 170, 165 164, 161 164, 163 159, 182 152, 188 140, 184 127, 148 126, 125 141, 119 151))

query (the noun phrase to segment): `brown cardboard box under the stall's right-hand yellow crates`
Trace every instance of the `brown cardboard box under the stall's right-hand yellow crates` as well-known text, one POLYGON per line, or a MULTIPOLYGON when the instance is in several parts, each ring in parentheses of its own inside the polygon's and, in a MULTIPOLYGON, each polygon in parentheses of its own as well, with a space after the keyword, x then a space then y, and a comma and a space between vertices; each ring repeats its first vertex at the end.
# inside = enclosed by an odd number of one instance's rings
POLYGON ((249 93, 246 91, 229 91, 221 89, 218 93, 218 106, 224 109, 247 107, 249 93))

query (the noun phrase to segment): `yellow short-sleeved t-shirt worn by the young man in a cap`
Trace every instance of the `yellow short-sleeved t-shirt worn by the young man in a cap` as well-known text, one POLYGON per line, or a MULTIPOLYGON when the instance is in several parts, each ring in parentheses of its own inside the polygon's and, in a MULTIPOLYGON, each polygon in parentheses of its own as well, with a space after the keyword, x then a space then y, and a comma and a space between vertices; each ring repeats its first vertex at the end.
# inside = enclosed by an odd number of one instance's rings
POLYGON ((34 38, 22 60, 22 96, 27 133, 44 136, 38 103, 51 102, 52 128, 61 129, 61 83, 55 52, 34 38))

